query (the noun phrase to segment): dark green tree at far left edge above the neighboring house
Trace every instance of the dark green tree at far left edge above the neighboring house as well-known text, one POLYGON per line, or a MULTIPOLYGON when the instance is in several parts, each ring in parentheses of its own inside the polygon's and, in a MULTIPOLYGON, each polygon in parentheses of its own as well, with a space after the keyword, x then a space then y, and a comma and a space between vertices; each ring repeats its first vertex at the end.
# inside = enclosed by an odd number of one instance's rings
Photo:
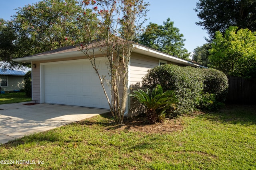
POLYGON ((6 21, 0 18, 0 61, 11 61, 15 47, 15 33, 6 21))

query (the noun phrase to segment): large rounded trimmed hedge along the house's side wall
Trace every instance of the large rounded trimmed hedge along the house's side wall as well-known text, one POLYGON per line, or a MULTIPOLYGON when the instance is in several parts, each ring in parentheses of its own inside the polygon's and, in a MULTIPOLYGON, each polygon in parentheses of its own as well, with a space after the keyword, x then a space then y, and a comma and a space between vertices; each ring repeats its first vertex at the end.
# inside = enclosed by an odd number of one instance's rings
POLYGON ((148 74, 142 78, 142 84, 149 89, 160 84, 164 91, 174 91, 178 102, 176 109, 171 112, 172 115, 190 113, 196 107, 212 107, 210 101, 214 107, 219 106, 218 102, 224 101, 228 88, 227 77, 218 70, 172 64, 148 70, 148 74), (201 104, 204 106, 200 106, 201 104))

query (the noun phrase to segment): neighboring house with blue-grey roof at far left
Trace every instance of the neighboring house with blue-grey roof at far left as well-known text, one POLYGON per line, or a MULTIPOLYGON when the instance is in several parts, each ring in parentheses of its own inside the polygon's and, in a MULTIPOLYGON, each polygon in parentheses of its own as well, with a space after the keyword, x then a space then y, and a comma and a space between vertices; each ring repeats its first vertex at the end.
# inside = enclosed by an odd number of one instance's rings
POLYGON ((0 89, 14 91, 24 89, 24 75, 31 70, 26 66, 10 67, 8 63, 0 62, 0 89))

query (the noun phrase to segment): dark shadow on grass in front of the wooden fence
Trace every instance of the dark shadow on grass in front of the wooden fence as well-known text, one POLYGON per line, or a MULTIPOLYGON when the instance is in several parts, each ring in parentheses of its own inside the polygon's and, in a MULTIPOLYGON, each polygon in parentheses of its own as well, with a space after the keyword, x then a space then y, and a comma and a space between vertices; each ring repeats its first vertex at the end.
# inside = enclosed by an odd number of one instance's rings
POLYGON ((256 105, 226 105, 219 111, 198 115, 220 123, 256 125, 256 105))

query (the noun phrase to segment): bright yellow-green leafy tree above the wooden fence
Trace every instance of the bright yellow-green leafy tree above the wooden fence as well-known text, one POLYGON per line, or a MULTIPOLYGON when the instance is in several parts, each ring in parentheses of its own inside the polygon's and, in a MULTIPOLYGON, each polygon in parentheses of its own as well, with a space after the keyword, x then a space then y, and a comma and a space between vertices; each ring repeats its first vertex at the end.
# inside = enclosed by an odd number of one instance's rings
POLYGON ((209 60, 228 76, 256 77, 256 32, 231 26, 216 32, 209 60))

